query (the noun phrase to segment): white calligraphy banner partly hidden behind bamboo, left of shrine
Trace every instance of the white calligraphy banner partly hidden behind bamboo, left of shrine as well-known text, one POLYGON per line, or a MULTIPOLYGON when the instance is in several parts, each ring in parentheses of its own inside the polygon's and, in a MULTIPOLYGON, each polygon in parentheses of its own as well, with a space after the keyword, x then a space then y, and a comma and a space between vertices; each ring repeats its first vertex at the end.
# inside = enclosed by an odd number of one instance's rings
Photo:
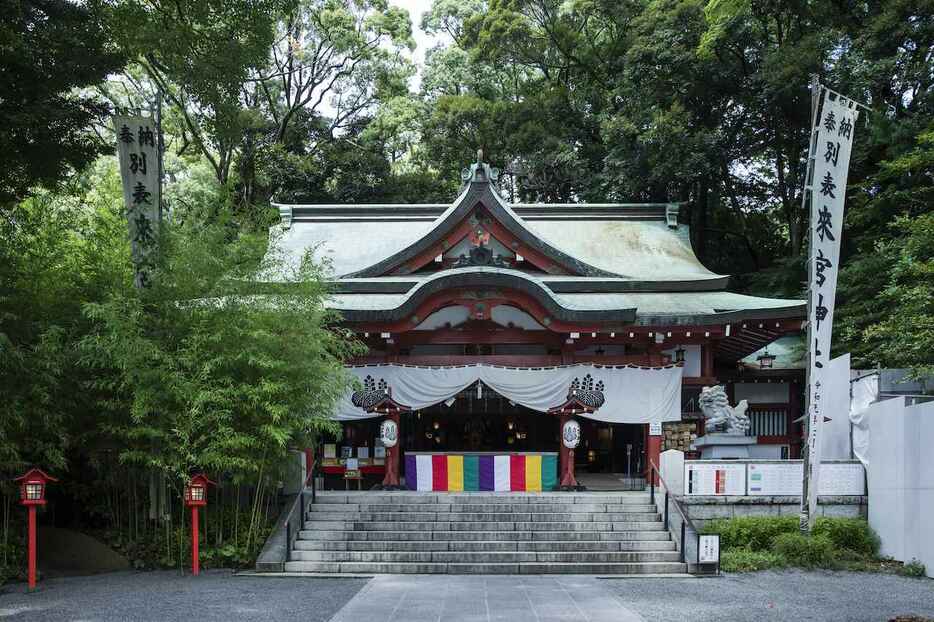
POLYGON ((136 286, 149 285, 159 226, 159 142, 146 117, 114 117, 136 286))

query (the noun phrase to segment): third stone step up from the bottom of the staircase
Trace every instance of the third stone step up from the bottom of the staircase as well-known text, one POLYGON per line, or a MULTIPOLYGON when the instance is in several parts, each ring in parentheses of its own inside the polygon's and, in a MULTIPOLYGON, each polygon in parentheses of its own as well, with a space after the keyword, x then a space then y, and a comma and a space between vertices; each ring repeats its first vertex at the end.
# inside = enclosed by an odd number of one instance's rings
POLYGON ((671 540, 580 540, 580 541, 453 541, 453 540, 296 540, 295 551, 461 551, 476 552, 579 552, 674 551, 671 540))

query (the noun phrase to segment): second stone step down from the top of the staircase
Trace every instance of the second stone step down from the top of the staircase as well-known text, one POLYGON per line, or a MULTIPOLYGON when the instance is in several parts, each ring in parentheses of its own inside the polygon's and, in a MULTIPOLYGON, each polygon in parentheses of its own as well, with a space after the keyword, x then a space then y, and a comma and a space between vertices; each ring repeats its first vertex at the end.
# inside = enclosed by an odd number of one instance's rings
POLYGON ((309 513, 332 514, 343 512, 655 512, 650 503, 313 503, 309 513))

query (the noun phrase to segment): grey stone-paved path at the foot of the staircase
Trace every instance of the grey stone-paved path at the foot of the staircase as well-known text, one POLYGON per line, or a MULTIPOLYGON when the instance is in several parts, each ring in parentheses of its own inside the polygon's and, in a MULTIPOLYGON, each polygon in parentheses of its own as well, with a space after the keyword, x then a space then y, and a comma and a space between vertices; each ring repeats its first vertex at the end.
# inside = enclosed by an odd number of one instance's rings
POLYGON ((606 581, 542 575, 377 576, 331 622, 360 620, 643 622, 606 581))

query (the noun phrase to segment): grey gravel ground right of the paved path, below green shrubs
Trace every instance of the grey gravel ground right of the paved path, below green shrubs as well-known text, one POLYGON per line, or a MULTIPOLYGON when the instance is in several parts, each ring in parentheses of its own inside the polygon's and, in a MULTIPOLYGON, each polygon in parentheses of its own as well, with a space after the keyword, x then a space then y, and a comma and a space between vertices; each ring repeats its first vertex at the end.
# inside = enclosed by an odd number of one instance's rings
POLYGON ((934 581, 861 572, 756 572, 705 579, 607 580, 651 622, 876 622, 934 618, 934 581))

